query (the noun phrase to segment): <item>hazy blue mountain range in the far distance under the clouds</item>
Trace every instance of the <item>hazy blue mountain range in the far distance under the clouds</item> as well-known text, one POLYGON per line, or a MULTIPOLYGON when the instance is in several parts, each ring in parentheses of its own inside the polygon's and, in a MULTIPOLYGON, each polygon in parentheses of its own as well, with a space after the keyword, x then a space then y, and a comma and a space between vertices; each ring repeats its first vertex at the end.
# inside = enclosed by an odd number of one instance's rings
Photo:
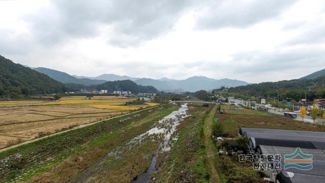
POLYGON ((97 77, 86 77, 69 75, 64 72, 47 69, 47 68, 34 68, 36 71, 44 73, 51 78, 63 83, 83 84, 85 86, 102 84, 106 81, 116 80, 132 80, 135 83, 143 86, 153 86, 161 91, 168 92, 195 92, 200 89, 212 90, 221 86, 234 87, 248 84, 245 81, 235 79, 211 79, 205 76, 193 76, 184 80, 176 80, 169 78, 151 79, 151 78, 137 78, 129 76, 119 76, 116 74, 102 74, 97 77))

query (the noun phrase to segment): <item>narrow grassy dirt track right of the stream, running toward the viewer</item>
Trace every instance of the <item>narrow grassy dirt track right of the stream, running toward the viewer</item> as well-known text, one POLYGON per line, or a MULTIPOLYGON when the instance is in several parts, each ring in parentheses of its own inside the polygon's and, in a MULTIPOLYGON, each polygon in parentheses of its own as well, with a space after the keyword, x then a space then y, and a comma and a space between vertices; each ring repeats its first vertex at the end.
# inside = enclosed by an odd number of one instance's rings
POLYGON ((204 136, 205 136, 205 148, 207 152, 207 163, 208 169, 210 173, 210 182, 211 183, 219 183, 220 177, 218 171, 215 168, 215 152, 213 151, 213 143, 211 139, 211 123, 216 112, 216 108, 213 107, 211 112, 208 114, 207 118, 204 122, 204 136))

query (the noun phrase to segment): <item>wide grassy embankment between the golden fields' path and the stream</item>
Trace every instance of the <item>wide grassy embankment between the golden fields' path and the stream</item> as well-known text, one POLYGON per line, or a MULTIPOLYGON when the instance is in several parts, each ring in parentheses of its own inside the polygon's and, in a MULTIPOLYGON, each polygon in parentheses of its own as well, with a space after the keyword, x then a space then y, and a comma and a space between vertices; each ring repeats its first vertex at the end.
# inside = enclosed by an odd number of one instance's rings
POLYGON ((153 121, 177 108, 161 106, 4 151, 0 153, 0 160, 4 160, 0 163, 0 182, 27 180, 33 176, 31 182, 69 180, 108 149, 145 132, 153 121))

